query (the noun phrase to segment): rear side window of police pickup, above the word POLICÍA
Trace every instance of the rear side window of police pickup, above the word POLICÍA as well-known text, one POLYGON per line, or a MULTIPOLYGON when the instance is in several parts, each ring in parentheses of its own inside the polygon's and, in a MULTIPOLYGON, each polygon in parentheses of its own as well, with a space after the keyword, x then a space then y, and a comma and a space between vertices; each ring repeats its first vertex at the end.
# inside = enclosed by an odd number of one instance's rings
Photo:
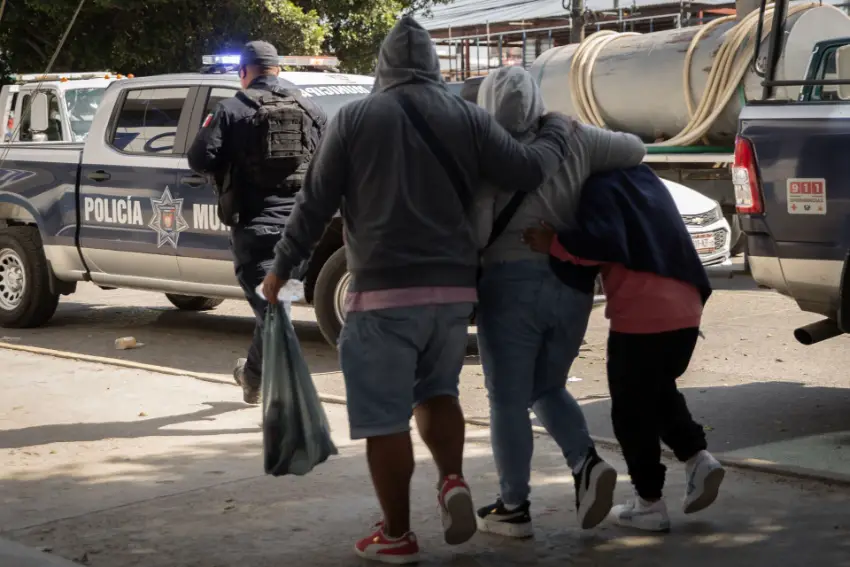
POLYGON ((189 87, 143 88, 127 92, 110 145, 139 155, 170 155, 189 87))

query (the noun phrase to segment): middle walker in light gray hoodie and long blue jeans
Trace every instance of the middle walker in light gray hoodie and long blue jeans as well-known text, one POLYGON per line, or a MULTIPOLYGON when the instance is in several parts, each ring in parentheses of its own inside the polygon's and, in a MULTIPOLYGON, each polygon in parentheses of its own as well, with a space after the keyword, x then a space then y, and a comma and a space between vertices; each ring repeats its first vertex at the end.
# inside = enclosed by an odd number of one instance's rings
MULTIPOLYGON (((481 84, 478 103, 519 141, 537 135, 545 112, 537 84, 518 67, 490 73, 481 84)), ((478 195, 476 226, 484 250, 476 319, 501 489, 494 504, 478 511, 482 531, 510 537, 533 533, 529 407, 573 471, 579 525, 594 527, 611 510, 617 473, 597 455, 581 408, 565 388, 593 306, 594 274, 577 274, 565 285, 564 275, 559 278, 550 267, 548 255, 532 251, 522 242, 522 233, 541 222, 556 230, 570 227, 582 185, 592 173, 637 165, 645 153, 636 136, 574 122, 558 173, 523 198, 489 245, 495 219, 513 196, 493 186, 478 195)))

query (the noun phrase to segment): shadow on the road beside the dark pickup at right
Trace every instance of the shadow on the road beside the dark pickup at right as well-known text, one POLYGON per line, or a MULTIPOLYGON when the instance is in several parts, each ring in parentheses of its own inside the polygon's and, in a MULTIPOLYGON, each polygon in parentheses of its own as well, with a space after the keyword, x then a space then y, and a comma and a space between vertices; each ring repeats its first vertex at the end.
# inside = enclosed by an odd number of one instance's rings
MULTIPOLYGON (((850 388, 753 382, 683 387, 680 391, 694 418, 706 428, 709 447, 716 452, 850 431, 850 388)), ((592 434, 614 437, 610 399, 589 401, 582 404, 582 410, 592 434)))

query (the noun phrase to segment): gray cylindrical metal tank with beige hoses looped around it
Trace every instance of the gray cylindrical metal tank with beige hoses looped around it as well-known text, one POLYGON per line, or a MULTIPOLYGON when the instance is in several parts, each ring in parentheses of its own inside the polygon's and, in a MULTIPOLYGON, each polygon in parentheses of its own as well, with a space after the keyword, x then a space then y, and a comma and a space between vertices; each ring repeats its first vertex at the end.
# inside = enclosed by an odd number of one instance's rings
MULTIPOLYGON (((694 50, 690 79, 694 104, 699 104, 714 55, 734 22, 703 36, 694 50)), ((624 37, 608 44, 597 56, 592 85, 605 123, 613 130, 631 132, 652 142, 671 138, 688 123, 682 93, 685 54, 699 27, 681 28, 624 37)), ((850 18, 830 8, 816 7, 788 18, 785 46, 777 66, 777 79, 803 79, 815 43, 850 36, 850 18)), ((530 72, 540 84, 548 110, 575 115, 569 88, 570 62, 577 45, 544 52, 530 72)), ((760 64, 767 57, 767 40, 761 46, 760 64)), ((760 99, 762 78, 750 67, 744 76, 744 96, 760 99)), ((795 99, 800 87, 778 88, 774 98, 795 99)), ((738 114, 745 100, 733 97, 707 134, 710 144, 731 146, 738 114)))

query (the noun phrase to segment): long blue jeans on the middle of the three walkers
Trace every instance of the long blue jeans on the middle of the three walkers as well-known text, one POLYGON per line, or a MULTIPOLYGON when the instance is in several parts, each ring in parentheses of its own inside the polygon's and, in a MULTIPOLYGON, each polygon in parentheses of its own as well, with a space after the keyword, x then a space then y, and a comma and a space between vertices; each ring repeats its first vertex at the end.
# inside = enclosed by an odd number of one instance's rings
POLYGON ((523 260, 485 266, 479 302, 493 457, 502 500, 519 505, 531 492, 529 407, 571 468, 593 447, 584 414, 566 390, 593 296, 564 285, 546 261, 523 260))

